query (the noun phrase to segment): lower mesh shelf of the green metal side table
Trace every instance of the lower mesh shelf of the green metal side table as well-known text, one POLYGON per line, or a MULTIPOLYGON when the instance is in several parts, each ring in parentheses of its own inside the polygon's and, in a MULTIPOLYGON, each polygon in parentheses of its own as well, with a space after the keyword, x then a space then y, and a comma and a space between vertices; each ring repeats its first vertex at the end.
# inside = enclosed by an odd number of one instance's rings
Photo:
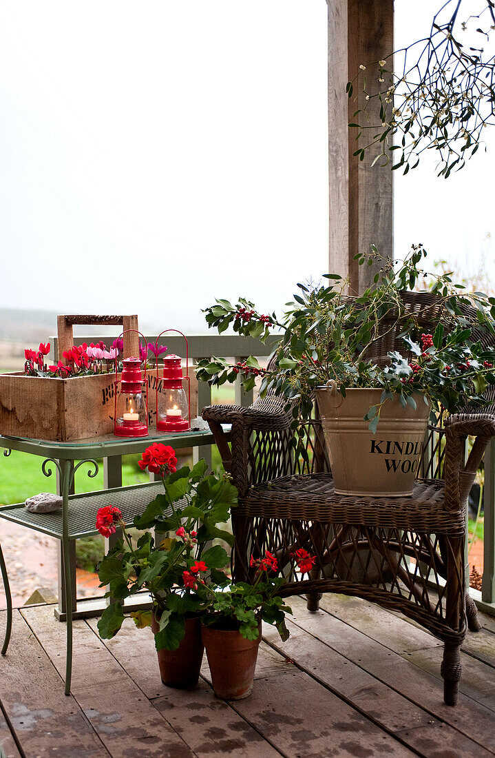
MULTIPOLYGON (((96 513, 103 506, 117 506, 122 511, 126 525, 132 525, 134 517, 140 515, 148 503, 163 493, 161 481, 136 484, 133 487, 115 487, 112 490, 87 492, 69 496, 69 539, 89 537, 98 534, 95 528, 96 513)), ((22 524, 34 531, 48 534, 58 540, 63 538, 62 511, 55 513, 31 513, 23 503, 0 506, 0 518, 22 524)))

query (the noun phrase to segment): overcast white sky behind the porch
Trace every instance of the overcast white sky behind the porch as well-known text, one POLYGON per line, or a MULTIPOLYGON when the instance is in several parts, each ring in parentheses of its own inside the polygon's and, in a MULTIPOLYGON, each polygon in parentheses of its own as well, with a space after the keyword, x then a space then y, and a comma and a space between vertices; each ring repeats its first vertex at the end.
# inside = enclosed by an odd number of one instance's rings
MULTIPOLYGON (((396 46, 436 6, 396 0, 396 46)), ((0 305, 202 331, 215 296, 279 308, 328 271, 326 13, 2 0, 0 305)), ((431 163, 396 177, 396 255, 493 266, 487 137, 449 180, 431 163)))

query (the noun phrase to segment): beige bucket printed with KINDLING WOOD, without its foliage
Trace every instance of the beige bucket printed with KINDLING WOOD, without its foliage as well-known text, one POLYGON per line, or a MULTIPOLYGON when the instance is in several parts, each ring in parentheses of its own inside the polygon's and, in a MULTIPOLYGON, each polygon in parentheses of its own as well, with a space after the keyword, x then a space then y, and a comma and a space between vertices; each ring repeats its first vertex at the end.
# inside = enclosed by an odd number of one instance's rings
POLYGON ((381 390, 335 387, 316 390, 335 492, 341 495, 400 497, 413 493, 430 406, 416 395, 416 409, 398 397, 381 408, 375 434, 363 416, 378 405, 381 390))

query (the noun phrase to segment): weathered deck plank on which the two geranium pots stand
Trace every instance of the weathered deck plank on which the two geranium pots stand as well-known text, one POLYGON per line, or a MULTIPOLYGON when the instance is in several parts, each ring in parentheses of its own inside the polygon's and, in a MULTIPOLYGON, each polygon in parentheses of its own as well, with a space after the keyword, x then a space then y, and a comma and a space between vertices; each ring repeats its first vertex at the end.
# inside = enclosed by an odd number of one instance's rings
MULTIPOLYGON (((97 620, 89 619, 88 623, 97 633, 97 620)), ((223 700, 216 700, 204 680, 200 680, 194 691, 165 687, 160 679, 151 630, 137 629, 133 622, 124 622, 120 633, 104 644, 198 758, 229 751, 235 751, 239 758, 280 755, 234 709, 223 700)), ((280 656, 274 653, 273 657, 279 660, 280 656)), ((257 675, 263 671, 267 671, 266 662, 265 666, 257 667, 257 675)))

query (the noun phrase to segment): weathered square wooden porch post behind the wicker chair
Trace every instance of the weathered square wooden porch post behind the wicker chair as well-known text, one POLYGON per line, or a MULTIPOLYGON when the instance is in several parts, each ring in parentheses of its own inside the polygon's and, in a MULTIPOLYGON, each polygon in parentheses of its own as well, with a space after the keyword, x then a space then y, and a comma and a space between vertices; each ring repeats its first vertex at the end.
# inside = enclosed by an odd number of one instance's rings
MULTIPOLYGON (((330 193, 329 270, 350 279, 350 292, 363 292, 380 265, 359 266, 358 252, 374 244, 393 256, 393 199, 390 167, 371 166, 379 152, 354 157, 357 130, 348 127, 364 105, 362 77, 349 99, 345 87, 360 65, 366 66, 369 89, 378 79, 379 61, 394 48, 393 0, 327 0, 328 2, 328 171, 330 193)), ((376 83, 378 86, 378 82, 376 83)), ((378 101, 377 101, 378 102, 378 101)), ((375 105, 371 123, 378 123, 375 105)), ((369 130, 372 134, 372 130, 369 130)), ((366 135, 360 139, 364 145, 366 135)))

